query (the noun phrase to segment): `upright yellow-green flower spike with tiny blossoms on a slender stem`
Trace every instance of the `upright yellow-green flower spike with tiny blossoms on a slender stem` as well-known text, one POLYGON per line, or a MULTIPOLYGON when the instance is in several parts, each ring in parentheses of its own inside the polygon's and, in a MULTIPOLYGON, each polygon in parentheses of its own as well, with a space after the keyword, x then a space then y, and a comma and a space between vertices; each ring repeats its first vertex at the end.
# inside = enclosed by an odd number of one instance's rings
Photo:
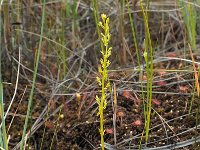
POLYGON ((96 96, 96 102, 99 105, 99 112, 98 115, 100 116, 100 135, 101 135, 101 149, 104 150, 104 116, 103 112, 106 108, 106 92, 110 87, 110 82, 108 78, 108 67, 110 65, 110 61, 108 58, 111 55, 112 47, 108 46, 110 41, 110 28, 109 28, 109 18, 105 15, 101 15, 102 22, 99 22, 99 27, 102 28, 103 32, 101 33, 102 39, 101 42, 103 43, 104 47, 101 49, 102 58, 100 59, 100 66, 98 68, 98 72, 100 77, 97 77, 97 82, 101 87, 100 93, 101 97, 96 96))

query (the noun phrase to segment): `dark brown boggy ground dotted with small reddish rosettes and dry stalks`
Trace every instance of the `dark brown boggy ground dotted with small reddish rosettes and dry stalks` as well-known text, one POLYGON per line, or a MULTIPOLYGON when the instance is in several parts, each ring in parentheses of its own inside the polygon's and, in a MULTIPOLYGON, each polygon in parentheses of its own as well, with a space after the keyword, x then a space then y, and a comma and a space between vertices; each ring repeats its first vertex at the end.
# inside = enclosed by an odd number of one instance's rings
MULTIPOLYGON (((199 101, 196 94, 193 94, 193 73, 192 71, 167 72, 163 71, 161 67, 157 68, 157 66, 168 66, 168 70, 181 69, 180 66, 183 62, 173 60, 172 57, 169 58, 172 60, 154 65, 157 71, 153 78, 153 109, 147 145, 141 145, 145 143, 143 104, 146 103, 145 100, 142 100, 141 87, 145 88, 146 76, 142 76, 143 83, 141 84, 139 73, 134 71, 134 68, 129 67, 110 72, 112 86, 114 83, 116 84, 117 110, 116 120, 113 121, 113 93, 109 94, 108 105, 104 112, 105 142, 108 149, 111 149, 111 146, 114 149, 139 149, 139 145, 143 148, 168 145, 169 149, 178 149, 176 148, 177 143, 199 136, 199 101), (113 122, 116 124, 115 130, 113 122)), ((13 72, 17 73, 15 70, 13 72)), ((42 75, 41 70, 39 73, 42 75)), ((3 73, 6 108, 8 108, 15 90, 15 82, 8 84, 11 80, 10 76, 10 71, 6 70, 3 73)), ((52 149, 60 150, 99 149, 98 106, 95 103, 98 84, 95 76, 96 74, 90 72, 85 75, 82 73, 80 80, 85 81, 84 83, 70 81, 73 86, 65 90, 66 93, 60 94, 57 91, 54 95, 52 89, 58 86, 53 87, 52 83, 50 84, 44 78, 45 76, 38 77, 33 98, 32 117, 29 120, 29 129, 30 126, 33 126, 32 136, 27 141, 27 149, 37 150, 41 147, 42 149, 52 147, 52 149)), ((14 103, 6 119, 10 149, 16 148, 21 139, 31 77, 30 71, 22 67, 14 103), (25 80, 24 75, 28 76, 30 80, 25 80)), ((68 83, 62 86, 63 89, 67 88, 68 83)), ((198 148, 198 142, 193 142, 190 146, 179 149, 198 148)))

